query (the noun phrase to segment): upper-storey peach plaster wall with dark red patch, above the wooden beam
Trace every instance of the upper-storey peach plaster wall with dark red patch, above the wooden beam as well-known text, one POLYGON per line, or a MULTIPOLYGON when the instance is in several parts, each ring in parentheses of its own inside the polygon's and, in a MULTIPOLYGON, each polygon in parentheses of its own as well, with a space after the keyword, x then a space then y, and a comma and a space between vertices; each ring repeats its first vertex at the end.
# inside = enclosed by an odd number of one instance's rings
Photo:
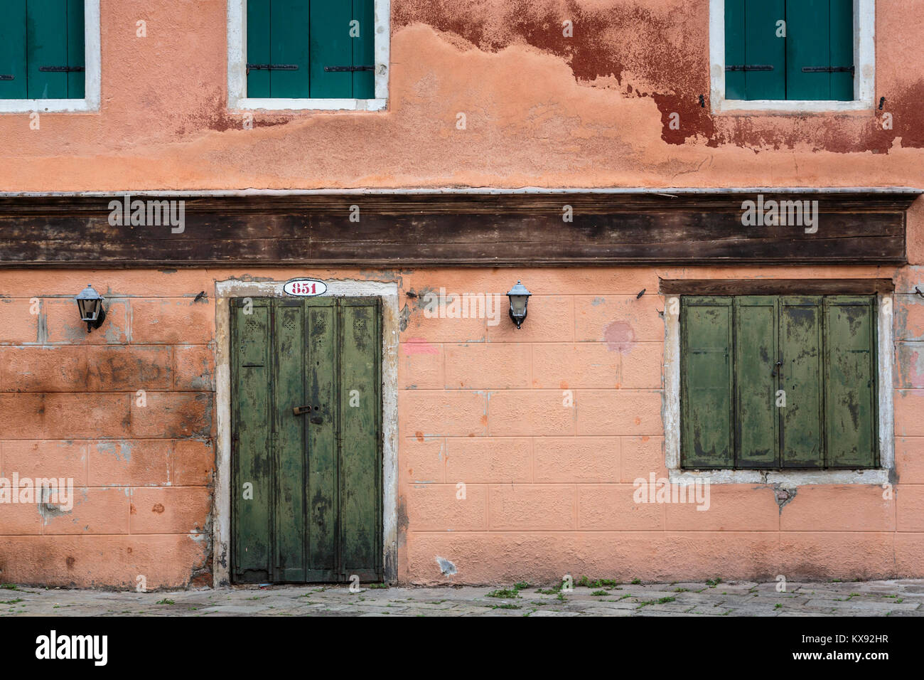
POLYGON ((225 9, 103 0, 101 111, 0 116, 0 190, 924 183, 924 0, 877 2, 893 130, 878 110, 711 115, 707 0, 395 0, 387 111, 244 130, 225 9))

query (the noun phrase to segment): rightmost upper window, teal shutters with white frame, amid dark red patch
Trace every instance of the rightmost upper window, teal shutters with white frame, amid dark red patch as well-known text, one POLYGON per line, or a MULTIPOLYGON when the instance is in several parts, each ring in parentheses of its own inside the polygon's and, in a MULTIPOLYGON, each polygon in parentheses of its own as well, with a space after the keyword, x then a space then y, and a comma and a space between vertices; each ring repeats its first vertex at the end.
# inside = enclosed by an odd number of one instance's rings
POLYGON ((871 108, 874 0, 711 0, 711 13, 714 111, 871 108))

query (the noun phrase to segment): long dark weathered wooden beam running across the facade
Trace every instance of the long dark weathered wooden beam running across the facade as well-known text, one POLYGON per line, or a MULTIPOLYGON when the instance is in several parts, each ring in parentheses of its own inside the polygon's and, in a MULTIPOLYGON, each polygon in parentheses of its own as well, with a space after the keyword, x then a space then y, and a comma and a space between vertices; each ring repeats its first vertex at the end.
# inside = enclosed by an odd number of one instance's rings
POLYGON ((183 200, 182 231, 112 224, 120 195, 6 196, 0 266, 899 265, 917 195, 764 195, 818 201, 813 233, 744 226, 740 192, 133 197, 183 200))

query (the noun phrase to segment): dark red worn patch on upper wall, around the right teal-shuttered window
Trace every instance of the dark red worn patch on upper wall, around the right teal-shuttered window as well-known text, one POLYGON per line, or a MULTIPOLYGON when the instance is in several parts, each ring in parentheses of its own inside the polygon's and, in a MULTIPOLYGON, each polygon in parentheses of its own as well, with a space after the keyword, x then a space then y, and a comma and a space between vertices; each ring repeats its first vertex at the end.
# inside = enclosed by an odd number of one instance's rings
MULTIPOLYGON (((708 146, 733 144, 755 151, 792 149, 808 144, 814 151, 888 153, 896 138, 904 147, 924 147, 924 80, 886 97, 882 111, 843 115, 711 114, 708 3, 677 2, 657 9, 638 3, 581 6, 575 0, 515 0, 486 6, 480 0, 407 0, 393 8, 395 28, 424 23, 455 33, 480 50, 497 52, 529 44, 565 60, 575 78, 590 87, 612 86, 624 97, 651 97, 661 111, 662 139, 683 144, 694 139, 708 146), (570 19, 572 37, 563 35, 570 19), (650 83, 638 90, 629 78, 650 83), (700 105, 699 96, 703 96, 700 105), (894 116, 894 129, 883 130, 883 112, 894 116), (672 114, 678 120, 671 129, 672 114)), ((877 47, 888 49, 879 41, 877 47)))

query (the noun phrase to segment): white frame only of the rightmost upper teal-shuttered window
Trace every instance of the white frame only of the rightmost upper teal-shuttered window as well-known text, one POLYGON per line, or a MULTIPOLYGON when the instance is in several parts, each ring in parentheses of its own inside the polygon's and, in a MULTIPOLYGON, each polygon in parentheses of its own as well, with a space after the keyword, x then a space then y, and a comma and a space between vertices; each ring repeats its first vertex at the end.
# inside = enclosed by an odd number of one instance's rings
POLYGON ((876 0, 854 0, 854 99, 850 102, 725 99, 725 0, 709 2, 710 101, 713 114, 872 111, 876 90, 876 0))

